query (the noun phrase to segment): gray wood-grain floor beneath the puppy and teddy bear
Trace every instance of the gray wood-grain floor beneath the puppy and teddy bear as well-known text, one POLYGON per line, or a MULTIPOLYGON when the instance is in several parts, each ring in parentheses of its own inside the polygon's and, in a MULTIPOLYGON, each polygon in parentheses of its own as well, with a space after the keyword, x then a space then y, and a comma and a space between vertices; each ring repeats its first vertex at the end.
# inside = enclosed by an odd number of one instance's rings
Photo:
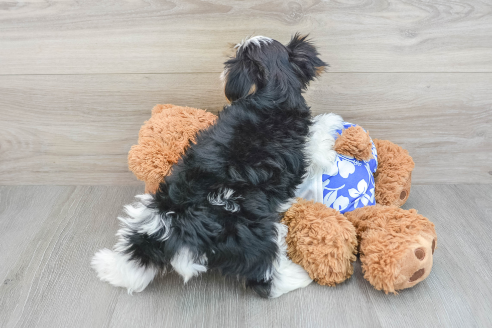
POLYGON ((406 208, 435 224, 430 276, 385 295, 354 275, 336 287, 312 283, 277 299, 207 273, 176 274, 130 296, 100 282, 93 253, 111 247, 121 206, 139 186, 0 187, 1 327, 431 327, 490 326, 492 185, 420 185, 406 208))

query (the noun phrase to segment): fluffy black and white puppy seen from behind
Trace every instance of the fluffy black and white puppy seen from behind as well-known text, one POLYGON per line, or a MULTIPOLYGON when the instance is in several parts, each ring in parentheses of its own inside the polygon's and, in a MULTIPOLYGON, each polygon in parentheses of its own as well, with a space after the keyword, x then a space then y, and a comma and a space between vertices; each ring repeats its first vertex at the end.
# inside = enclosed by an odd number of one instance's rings
POLYGON ((219 269, 263 297, 311 282, 287 257, 280 220, 306 173, 311 113, 302 92, 326 64, 299 35, 287 46, 259 36, 235 49, 222 75, 230 105, 155 195, 126 206, 114 249, 92 259, 101 280, 133 292, 162 269, 185 282, 219 269))

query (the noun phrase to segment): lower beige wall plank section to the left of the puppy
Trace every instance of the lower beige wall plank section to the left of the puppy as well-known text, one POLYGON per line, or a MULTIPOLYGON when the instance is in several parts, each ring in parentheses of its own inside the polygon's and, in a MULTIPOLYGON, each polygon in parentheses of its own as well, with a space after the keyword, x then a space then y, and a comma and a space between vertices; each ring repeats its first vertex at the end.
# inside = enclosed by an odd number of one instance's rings
POLYGON ((127 154, 157 103, 217 112, 218 74, 0 77, 0 184, 139 183, 127 154))

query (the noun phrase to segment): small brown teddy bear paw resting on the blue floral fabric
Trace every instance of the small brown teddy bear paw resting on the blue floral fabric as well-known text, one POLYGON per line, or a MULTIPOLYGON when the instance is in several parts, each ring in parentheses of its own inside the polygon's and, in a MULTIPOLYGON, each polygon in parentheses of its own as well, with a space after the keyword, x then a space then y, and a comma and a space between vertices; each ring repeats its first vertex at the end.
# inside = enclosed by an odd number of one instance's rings
POLYGON ((368 161, 373 158, 372 147, 369 131, 365 132, 362 127, 356 125, 338 135, 333 150, 341 155, 353 156, 358 161, 368 161))

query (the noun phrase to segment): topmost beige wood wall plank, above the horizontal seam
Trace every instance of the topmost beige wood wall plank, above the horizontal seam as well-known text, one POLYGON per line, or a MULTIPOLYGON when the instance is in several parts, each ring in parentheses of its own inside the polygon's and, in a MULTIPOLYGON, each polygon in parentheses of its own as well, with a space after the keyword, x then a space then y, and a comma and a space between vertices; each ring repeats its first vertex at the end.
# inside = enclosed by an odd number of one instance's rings
POLYGON ((297 31, 331 72, 492 72, 491 13, 480 0, 0 2, 0 74, 220 72, 228 43, 297 31))

